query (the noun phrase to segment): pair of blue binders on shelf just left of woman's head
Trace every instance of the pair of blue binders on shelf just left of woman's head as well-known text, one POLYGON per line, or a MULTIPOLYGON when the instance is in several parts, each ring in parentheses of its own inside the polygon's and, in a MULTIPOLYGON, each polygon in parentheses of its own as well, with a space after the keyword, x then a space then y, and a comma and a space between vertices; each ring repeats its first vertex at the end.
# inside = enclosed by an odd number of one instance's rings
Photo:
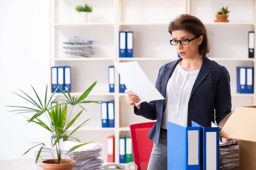
POLYGON ((119 57, 133 57, 133 31, 119 31, 119 57))

